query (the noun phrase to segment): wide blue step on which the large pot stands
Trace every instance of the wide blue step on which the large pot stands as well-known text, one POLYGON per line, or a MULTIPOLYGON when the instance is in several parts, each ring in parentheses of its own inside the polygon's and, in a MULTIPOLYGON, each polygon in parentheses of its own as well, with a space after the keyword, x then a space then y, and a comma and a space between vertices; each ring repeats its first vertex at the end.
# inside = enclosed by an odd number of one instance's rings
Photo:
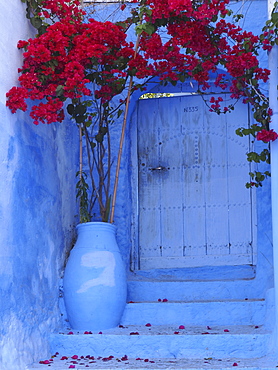
POLYGON ((59 333, 52 353, 121 358, 257 358, 267 355, 271 333, 259 326, 123 326, 103 333, 59 333))

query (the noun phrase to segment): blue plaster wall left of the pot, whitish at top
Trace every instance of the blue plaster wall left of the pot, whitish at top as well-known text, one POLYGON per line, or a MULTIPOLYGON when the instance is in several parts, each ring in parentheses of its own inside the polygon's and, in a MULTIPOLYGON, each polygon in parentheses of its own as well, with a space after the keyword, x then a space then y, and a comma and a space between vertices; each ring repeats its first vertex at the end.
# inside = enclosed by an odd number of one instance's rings
POLYGON ((68 122, 35 126, 11 114, 17 41, 32 36, 20 0, 0 12, 0 369, 23 370, 46 356, 59 326, 59 277, 73 236, 77 142, 68 122))

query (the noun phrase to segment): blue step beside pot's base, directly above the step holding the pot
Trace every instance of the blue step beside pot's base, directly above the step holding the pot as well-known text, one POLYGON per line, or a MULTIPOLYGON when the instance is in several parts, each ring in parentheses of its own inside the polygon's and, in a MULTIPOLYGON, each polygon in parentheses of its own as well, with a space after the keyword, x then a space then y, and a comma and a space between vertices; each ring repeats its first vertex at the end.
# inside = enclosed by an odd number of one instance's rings
POLYGON ((262 325, 264 299, 199 302, 133 302, 126 305, 122 325, 262 325))

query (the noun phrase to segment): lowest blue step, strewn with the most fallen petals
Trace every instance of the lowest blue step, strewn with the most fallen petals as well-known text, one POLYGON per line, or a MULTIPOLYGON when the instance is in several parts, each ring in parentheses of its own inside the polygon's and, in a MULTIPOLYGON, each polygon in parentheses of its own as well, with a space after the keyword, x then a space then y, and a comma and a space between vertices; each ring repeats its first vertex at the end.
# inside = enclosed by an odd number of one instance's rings
POLYGON ((274 358, 256 358, 256 359, 217 359, 217 358, 202 358, 202 359, 157 359, 157 358, 92 358, 91 356, 74 356, 74 358, 61 354, 53 358, 42 360, 47 361, 45 364, 33 364, 27 368, 45 369, 46 366, 55 370, 74 369, 137 369, 137 370, 160 370, 160 369, 178 369, 178 370, 276 370, 278 361, 274 358), (73 367, 75 366, 75 367, 73 367))

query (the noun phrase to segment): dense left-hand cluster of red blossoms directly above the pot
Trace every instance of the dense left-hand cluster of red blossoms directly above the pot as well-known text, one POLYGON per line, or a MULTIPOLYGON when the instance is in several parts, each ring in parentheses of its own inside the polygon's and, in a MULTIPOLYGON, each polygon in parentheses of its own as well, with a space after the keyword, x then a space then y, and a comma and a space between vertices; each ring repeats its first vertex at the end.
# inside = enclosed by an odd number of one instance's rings
MULTIPOLYGON (((59 2, 47 2, 52 11, 57 4, 59 2)), ((20 87, 7 93, 7 106, 14 113, 17 109, 27 109, 27 98, 46 99, 32 108, 30 115, 35 124, 61 122, 63 102, 67 98, 91 95, 88 84, 96 80, 100 85, 96 97, 111 100, 119 92, 119 76, 125 76, 119 63, 133 55, 133 44, 125 41, 121 26, 93 19, 89 23, 79 18, 69 22, 68 17, 69 14, 50 25, 39 37, 18 43, 19 48, 26 50, 19 70, 20 87)))

